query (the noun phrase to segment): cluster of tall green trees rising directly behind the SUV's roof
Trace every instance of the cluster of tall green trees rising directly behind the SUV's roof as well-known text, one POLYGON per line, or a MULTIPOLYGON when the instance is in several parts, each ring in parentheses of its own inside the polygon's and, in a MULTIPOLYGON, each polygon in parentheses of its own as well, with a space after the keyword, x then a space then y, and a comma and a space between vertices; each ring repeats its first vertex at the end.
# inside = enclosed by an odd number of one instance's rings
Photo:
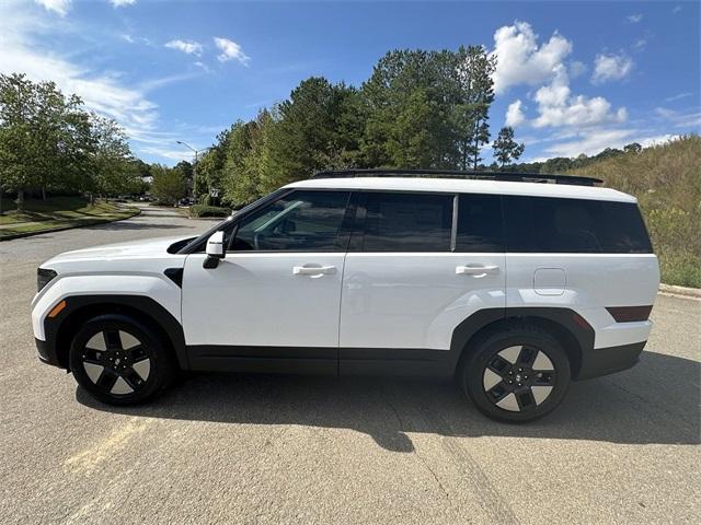
MULTIPOLYGON (((476 170, 490 143, 496 62, 481 46, 456 51, 393 50, 359 88, 322 77, 239 120, 196 166, 200 202, 217 195, 240 206, 321 170, 476 170)), ((498 165, 524 152, 514 130, 493 144, 498 165)))

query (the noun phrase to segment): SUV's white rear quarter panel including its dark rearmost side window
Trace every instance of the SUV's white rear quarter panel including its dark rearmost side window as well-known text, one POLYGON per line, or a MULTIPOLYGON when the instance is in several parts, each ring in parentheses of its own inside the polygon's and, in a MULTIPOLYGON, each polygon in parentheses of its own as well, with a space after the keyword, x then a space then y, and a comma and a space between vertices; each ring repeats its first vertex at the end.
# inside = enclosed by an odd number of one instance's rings
POLYGON ((505 196, 507 307, 562 307, 595 328, 595 348, 647 338, 651 322, 607 307, 653 305, 657 257, 635 202, 505 196))

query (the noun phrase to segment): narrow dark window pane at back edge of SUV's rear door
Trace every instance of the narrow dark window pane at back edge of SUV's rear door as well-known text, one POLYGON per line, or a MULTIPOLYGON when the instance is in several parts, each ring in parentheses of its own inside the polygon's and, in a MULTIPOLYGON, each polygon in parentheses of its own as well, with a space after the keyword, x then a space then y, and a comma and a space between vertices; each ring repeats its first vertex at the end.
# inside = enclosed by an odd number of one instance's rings
POLYGON ((456 252, 504 252, 502 198, 461 195, 458 202, 456 252))

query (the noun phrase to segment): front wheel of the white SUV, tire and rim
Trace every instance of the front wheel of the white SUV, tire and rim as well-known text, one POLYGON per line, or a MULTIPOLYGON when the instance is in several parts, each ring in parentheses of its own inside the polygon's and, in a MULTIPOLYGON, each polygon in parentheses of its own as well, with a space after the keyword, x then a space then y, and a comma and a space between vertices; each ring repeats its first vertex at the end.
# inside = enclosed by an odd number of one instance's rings
POLYGON ((107 405, 138 405, 158 396, 176 369, 161 338, 137 319, 107 314, 77 331, 70 370, 78 384, 107 405))

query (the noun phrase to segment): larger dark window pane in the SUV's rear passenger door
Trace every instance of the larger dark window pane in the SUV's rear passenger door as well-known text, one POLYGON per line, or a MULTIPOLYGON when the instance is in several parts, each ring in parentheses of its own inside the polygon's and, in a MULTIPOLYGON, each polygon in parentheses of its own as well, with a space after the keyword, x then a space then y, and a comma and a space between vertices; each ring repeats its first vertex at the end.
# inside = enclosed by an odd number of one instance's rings
POLYGON ((363 199, 364 252, 450 250, 452 195, 366 192, 363 199))

